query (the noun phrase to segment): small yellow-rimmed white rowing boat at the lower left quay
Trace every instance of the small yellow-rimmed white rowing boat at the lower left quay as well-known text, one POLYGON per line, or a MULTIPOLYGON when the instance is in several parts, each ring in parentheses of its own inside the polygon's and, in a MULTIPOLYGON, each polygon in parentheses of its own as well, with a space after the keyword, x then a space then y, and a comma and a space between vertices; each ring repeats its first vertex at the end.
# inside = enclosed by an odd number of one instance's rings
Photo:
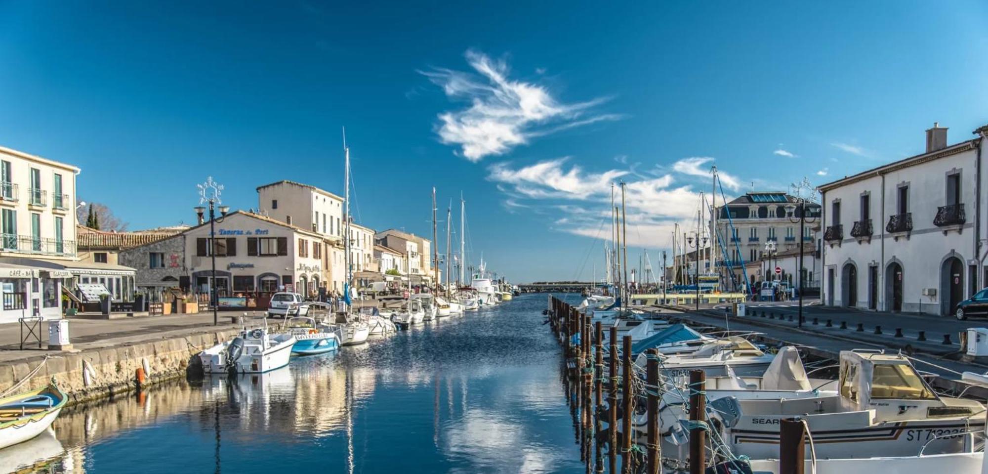
POLYGON ((41 435, 58 418, 65 400, 54 381, 0 399, 0 449, 41 435))

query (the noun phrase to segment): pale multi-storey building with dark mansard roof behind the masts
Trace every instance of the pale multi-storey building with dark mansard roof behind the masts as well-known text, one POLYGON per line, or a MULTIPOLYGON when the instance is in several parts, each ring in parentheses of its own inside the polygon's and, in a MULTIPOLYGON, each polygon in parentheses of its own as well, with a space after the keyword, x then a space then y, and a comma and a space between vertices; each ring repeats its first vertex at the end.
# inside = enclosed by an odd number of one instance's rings
POLYGON ((769 254, 798 255, 800 246, 805 252, 803 281, 810 285, 818 280, 813 275, 813 269, 819 268, 813 266, 813 241, 820 229, 820 204, 805 203, 806 221, 800 234, 802 209, 798 197, 782 192, 746 193, 717 207, 715 258, 728 289, 732 281, 740 289, 740 283, 747 278, 745 287, 750 289, 758 281, 774 278, 747 269, 751 263, 763 262, 769 254))

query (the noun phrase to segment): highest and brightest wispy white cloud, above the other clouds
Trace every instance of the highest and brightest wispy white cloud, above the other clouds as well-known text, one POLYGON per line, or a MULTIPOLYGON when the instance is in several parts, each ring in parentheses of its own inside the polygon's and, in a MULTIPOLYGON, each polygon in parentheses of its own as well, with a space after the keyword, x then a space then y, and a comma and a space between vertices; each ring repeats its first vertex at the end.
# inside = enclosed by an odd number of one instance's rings
POLYGON ((620 118, 593 112, 606 98, 565 104, 543 86, 509 79, 504 60, 472 50, 466 51, 466 60, 474 72, 443 68, 420 72, 449 98, 470 104, 440 114, 437 129, 440 141, 458 145, 460 154, 470 161, 502 155, 536 136, 620 118))

